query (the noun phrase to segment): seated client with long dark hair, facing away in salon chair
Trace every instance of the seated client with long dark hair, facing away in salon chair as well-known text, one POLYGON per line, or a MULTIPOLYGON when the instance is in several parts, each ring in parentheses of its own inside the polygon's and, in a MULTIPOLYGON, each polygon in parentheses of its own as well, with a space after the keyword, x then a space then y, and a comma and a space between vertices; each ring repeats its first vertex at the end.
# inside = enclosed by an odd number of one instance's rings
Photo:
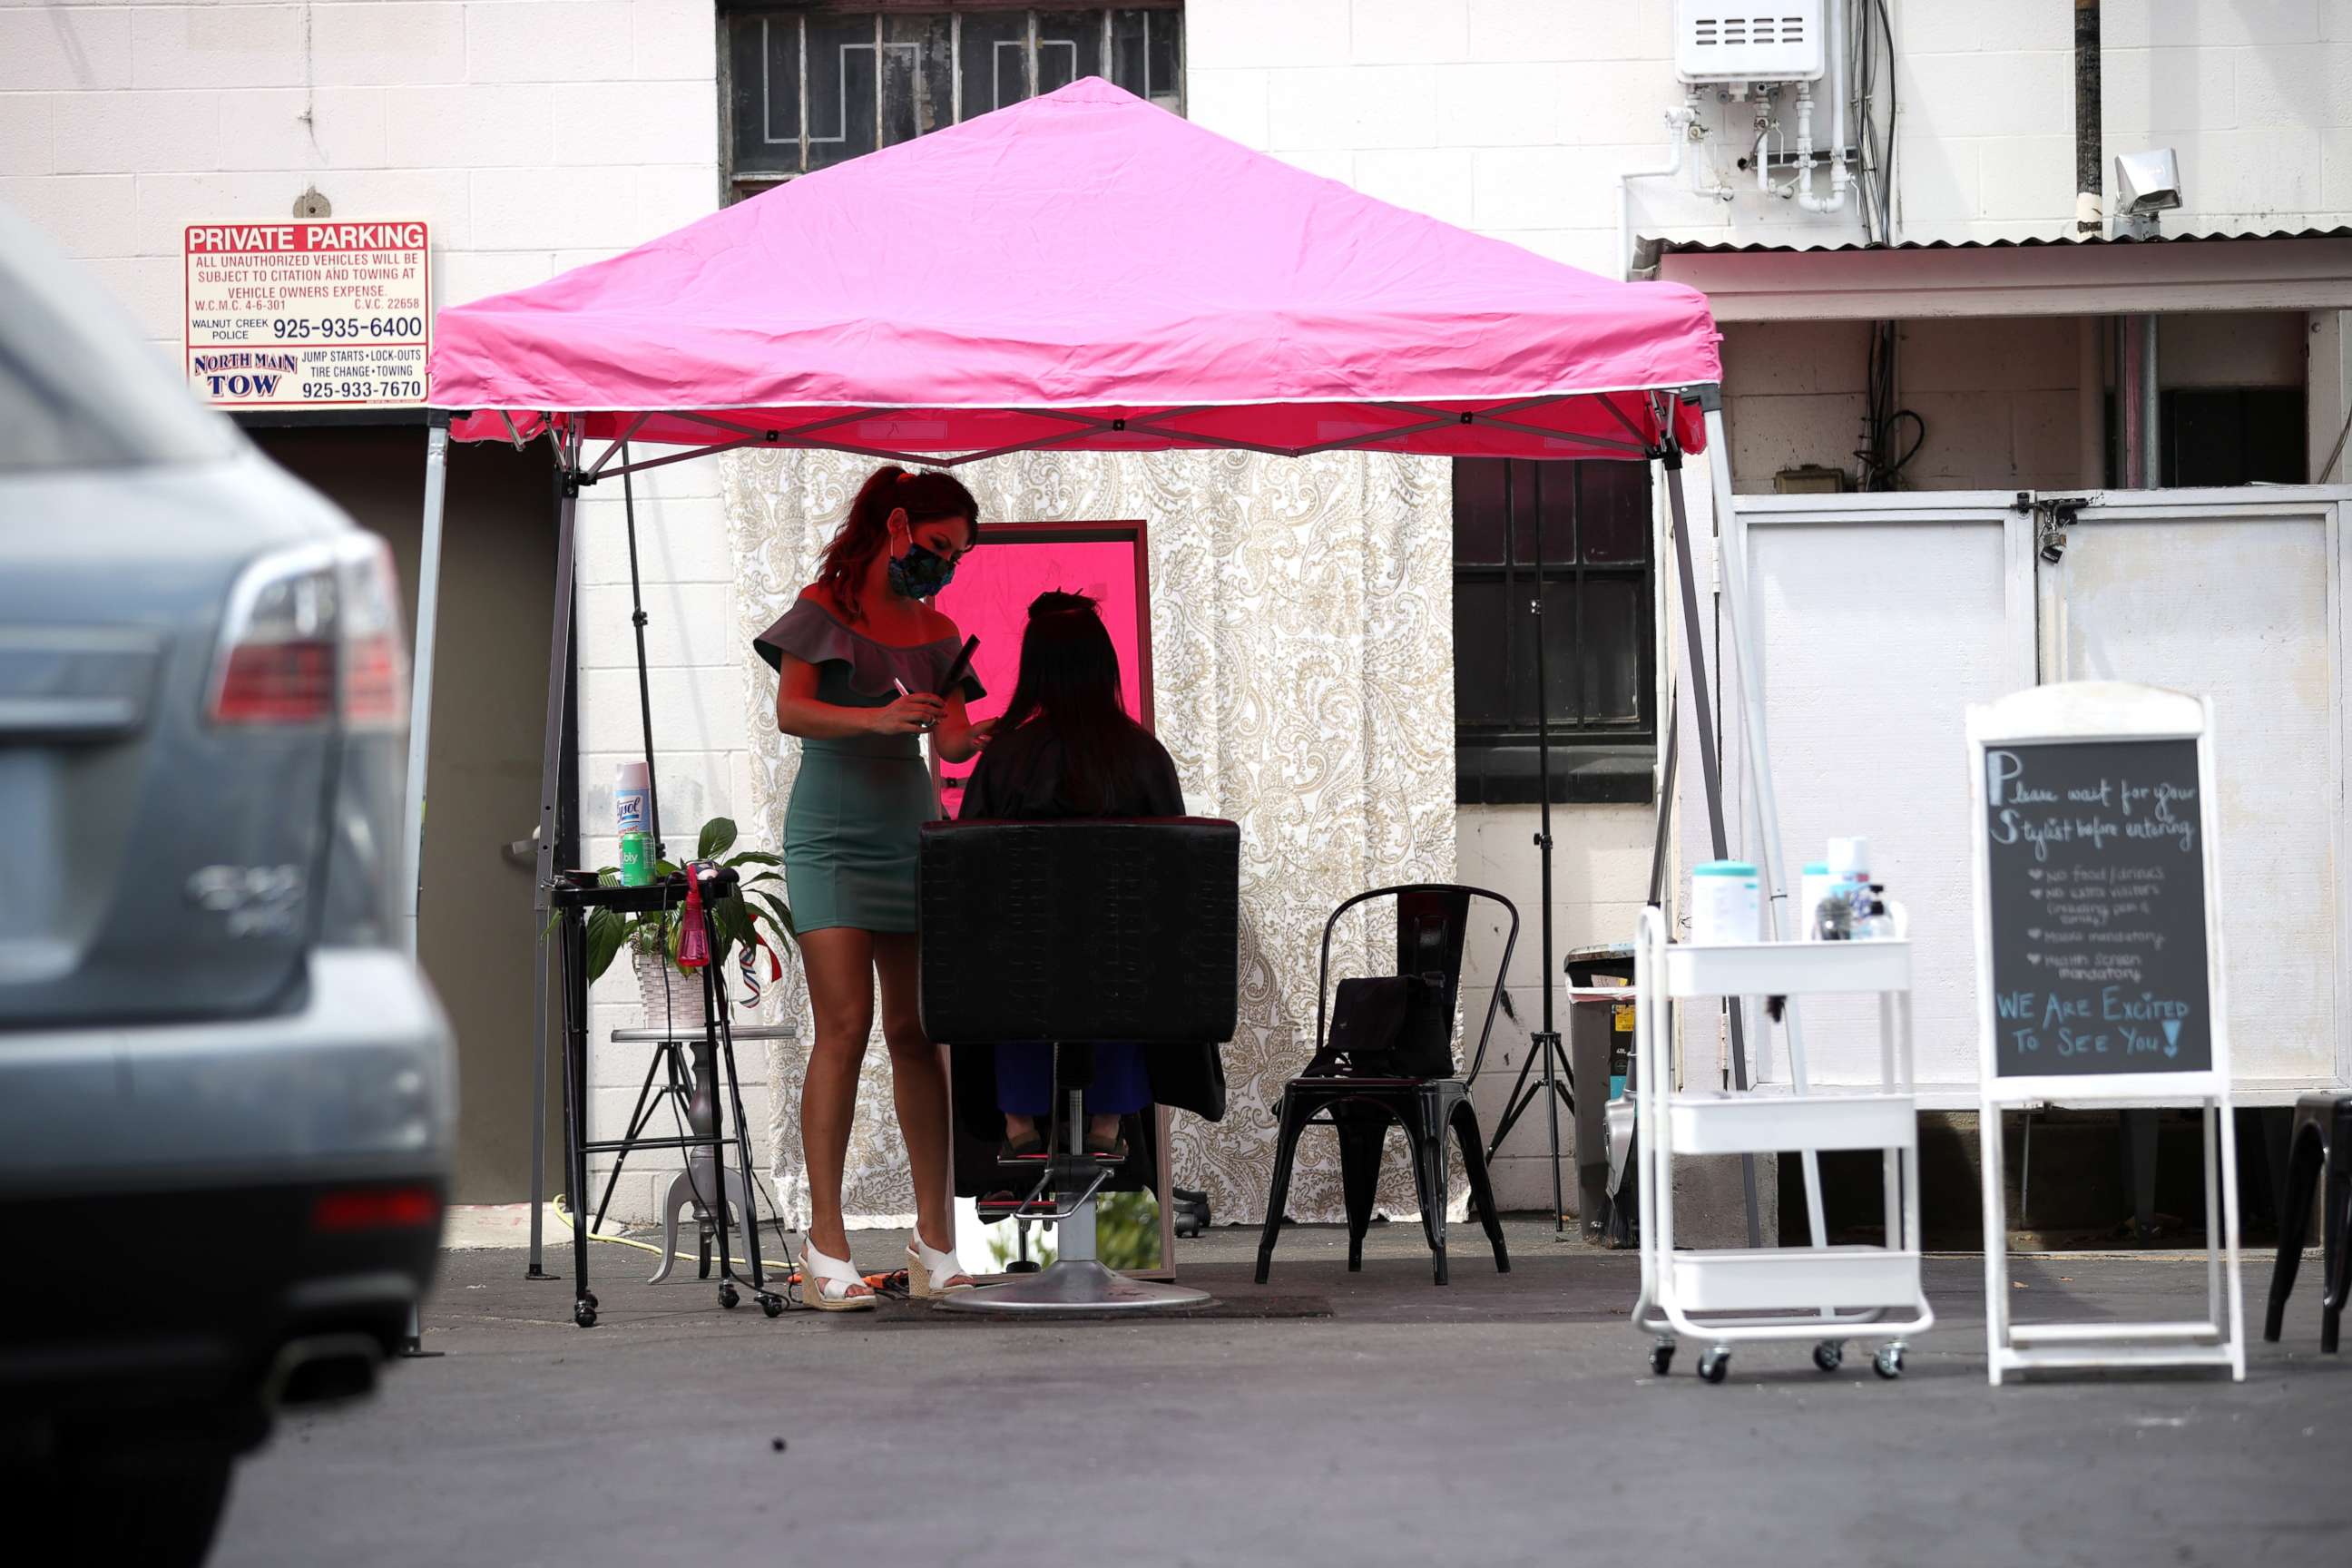
MULTIPOLYGON (((988 750, 964 783, 962 820, 1073 816, 1183 816, 1176 764, 1120 705, 1120 656, 1094 599, 1042 592, 1021 637, 1021 679, 988 750)), ((1087 1150, 1127 1157, 1120 1121, 1152 1103, 1211 1121, 1225 1112, 1216 1046, 1094 1044, 1087 1086, 1087 1150)), ((1004 1114, 1004 1152, 1044 1154, 1040 1117, 1054 1110, 1047 1044, 957 1046, 955 1110, 967 1126, 1004 1114), (993 1074, 983 1058, 993 1056, 993 1074), (990 1103, 993 1095, 993 1103, 990 1103)))

